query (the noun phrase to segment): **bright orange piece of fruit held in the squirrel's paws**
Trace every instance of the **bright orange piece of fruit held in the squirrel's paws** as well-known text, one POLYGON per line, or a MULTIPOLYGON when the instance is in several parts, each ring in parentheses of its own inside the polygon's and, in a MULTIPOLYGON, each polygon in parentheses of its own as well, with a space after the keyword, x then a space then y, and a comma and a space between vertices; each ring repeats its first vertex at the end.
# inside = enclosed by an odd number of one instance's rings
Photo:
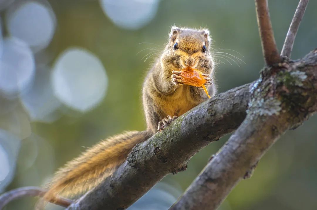
POLYGON ((206 88, 206 82, 204 73, 192 68, 185 68, 180 71, 180 76, 182 77, 182 83, 186 85, 196 86, 196 87, 202 87, 207 94, 208 98, 210 98, 210 95, 208 94, 208 90, 206 88))

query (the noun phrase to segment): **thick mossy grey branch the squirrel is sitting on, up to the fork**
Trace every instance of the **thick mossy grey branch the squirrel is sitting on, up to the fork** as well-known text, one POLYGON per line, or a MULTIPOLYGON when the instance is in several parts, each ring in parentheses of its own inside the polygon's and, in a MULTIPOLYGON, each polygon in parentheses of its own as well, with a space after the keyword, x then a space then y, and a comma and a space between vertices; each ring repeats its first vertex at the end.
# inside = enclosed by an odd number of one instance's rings
POLYGON ((125 209, 170 173, 183 171, 201 148, 245 118, 249 84, 221 93, 180 116, 168 129, 136 145, 128 159, 68 209, 125 209))

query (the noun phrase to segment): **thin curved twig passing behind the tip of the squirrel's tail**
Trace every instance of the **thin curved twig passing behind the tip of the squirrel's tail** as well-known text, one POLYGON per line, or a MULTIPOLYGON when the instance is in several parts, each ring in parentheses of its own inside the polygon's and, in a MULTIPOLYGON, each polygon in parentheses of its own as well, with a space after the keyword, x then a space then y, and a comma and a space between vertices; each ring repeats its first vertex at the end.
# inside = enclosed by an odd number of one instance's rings
MULTIPOLYGON (((40 196, 42 197, 45 194, 46 190, 40 187, 20 187, 14 190, 10 190, 0 196, 0 210, 10 203, 12 200, 19 198, 30 197, 30 196, 40 196)), ((56 205, 62 207, 68 207, 73 201, 66 198, 56 197, 52 202, 56 205)))

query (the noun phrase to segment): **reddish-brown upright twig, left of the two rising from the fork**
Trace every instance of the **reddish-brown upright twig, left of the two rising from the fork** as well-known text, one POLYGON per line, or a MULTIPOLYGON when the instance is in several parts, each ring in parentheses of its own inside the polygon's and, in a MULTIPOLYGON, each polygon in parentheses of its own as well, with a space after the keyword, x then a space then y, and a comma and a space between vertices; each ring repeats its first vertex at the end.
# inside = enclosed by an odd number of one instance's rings
POLYGON ((271 66, 275 63, 280 62, 281 57, 278 53, 274 39, 270 14, 268 11, 268 1, 255 0, 255 3, 257 23, 261 37, 264 60, 268 66, 271 66))

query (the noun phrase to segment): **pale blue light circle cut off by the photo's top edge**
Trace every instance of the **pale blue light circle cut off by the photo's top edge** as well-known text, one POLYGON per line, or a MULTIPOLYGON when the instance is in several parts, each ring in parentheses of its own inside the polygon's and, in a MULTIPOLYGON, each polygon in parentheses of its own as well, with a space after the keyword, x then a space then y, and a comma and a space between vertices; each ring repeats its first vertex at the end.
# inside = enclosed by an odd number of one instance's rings
POLYGON ((100 5, 114 24, 137 30, 154 18, 159 0, 100 0, 100 5))

